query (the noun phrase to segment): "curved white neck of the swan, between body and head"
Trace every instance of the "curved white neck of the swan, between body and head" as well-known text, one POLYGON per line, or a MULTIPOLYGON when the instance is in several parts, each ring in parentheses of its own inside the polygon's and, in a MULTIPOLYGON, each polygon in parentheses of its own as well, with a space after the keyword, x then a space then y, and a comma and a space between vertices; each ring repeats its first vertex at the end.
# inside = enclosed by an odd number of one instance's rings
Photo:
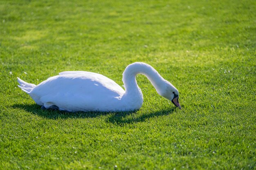
POLYGON ((151 84, 155 87, 157 93, 160 92, 165 79, 150 65, 141 62, 135 62, 126 67, 123 73, 123 82, 125 88, 125 95, 129 97, 142 97, 141 90, 136 82, 136 75, 145 75, 151 84))

